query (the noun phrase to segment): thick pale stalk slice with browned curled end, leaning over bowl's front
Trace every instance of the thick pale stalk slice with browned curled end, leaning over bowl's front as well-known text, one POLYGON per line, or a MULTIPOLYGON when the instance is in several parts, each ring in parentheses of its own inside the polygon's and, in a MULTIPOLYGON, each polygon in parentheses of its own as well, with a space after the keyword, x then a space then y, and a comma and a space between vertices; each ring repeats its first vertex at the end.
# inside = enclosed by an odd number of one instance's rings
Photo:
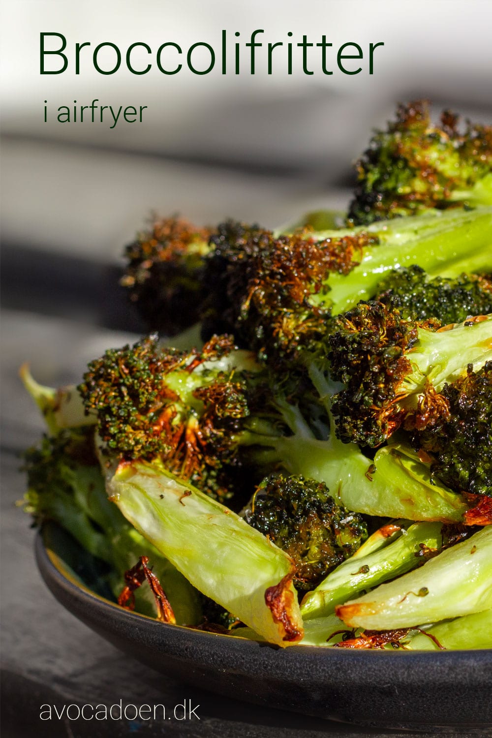
POLYGON ((156 463, 121 463, 108 494, 204 595, 271 643, 302 638, 291 559, 238 515, 156 463))

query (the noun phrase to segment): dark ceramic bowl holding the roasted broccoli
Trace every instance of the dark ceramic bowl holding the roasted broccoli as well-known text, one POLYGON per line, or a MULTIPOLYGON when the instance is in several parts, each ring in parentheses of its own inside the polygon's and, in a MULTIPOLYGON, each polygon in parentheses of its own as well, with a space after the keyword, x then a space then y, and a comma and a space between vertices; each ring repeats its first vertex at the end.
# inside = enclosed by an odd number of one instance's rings
POLYGON ((36 539, 61 604, 111 644, 167 676, 234 699, 380 728, 446 734, 492 725, 492 651, 278 649, 162 624, 101 596, 97 565, 61 528, 36 539))

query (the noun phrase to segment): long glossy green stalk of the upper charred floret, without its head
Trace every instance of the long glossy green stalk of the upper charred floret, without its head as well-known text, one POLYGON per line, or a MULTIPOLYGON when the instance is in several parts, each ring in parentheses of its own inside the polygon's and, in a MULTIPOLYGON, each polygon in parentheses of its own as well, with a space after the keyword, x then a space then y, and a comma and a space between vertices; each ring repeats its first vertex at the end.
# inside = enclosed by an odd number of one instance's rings
MULTIPOLYGON (((366 246, 360 263, 348 274, 330 275, 328 299, 333 315, 376 294, 381 278, 391 269, 418 264, 431 277, 457 277, 462 272, 487 272, 492 266, 492 207, 395 218, 365 230, 377 235, 379 244, 366 246)), ((342 233, 316 233, 316 238, 339 238, 342 233)))

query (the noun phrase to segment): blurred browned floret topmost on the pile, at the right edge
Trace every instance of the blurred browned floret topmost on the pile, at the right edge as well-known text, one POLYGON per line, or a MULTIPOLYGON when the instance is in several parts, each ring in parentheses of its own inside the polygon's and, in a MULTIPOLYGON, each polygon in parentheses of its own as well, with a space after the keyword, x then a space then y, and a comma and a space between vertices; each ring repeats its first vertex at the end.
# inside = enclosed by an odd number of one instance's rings
POLYGON ((492 203, 492 127, 449 111, 433 125, 429 103, 400 106, 387 131, 377 131, 358 161, 348 218, 369 224, 395 215, 492 203))

